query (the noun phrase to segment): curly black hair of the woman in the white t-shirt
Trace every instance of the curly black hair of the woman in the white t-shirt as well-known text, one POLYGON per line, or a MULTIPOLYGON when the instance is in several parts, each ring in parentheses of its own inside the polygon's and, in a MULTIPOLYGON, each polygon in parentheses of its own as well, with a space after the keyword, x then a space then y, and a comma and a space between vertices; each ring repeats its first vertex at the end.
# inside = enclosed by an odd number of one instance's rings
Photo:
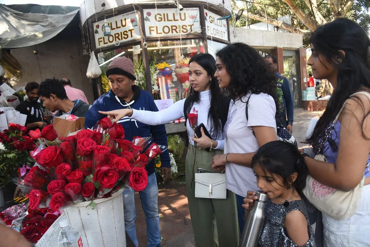
POLYGON ((254 48, 244 43, 228 44, 217 51, 216 56, 221 59, 230 76, 226 93, 231 99, 238 100, 249 91, 276 97, 275 74, 254 48))

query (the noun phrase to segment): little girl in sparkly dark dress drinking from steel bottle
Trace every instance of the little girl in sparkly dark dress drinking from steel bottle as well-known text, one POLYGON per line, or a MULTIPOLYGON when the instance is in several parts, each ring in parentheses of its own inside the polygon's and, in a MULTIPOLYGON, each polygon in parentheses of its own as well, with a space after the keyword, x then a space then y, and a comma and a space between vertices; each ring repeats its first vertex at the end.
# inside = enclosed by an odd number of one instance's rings
MULTIPOLYGON (((258 246, 316 246, 301 198, 308 169, 297 148, 284 141, 266 143, 253 156, 252 169, 257 186, 269 197, 258 246)), ((242 207, 249 210, 257 199, 255 194, 248 191, 242 207)))

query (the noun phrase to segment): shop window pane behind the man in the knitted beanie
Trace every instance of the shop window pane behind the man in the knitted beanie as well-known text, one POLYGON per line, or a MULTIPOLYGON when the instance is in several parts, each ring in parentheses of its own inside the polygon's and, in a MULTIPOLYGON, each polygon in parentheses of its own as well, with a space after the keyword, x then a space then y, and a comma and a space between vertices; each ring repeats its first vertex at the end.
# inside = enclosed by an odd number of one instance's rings
POLYGON ((145 90, 144 66, 142 64, 141 51, 140 49, 135 49, 136 51, 135 53, 137 53, 137 50, 140 53, 134 54, 134 47, 130 46, 130 47, 120 47, 112 51, 104 51, 98 53, 98 63, 102 72, 100 76, 101 84, 104 93, 107 93, 110 90, 109 80, 105 76, 105 70, 112 62, 112 60, 115 59, 116 57, 128 57, 129 59, 134 61, 136 77, 135 84, 137 84, 141 89, 145 90))

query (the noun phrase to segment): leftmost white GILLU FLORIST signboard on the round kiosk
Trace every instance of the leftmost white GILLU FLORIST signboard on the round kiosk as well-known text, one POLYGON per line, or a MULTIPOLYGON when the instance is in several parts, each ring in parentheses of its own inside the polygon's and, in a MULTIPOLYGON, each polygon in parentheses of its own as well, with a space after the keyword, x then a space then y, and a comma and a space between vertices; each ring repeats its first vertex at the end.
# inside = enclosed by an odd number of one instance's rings
POLYGON ((104 20, 94 23, 96 48, 110 46, 117 41, 124 42, 140 38, 138 14, 135 11, 108 18, 107 23, 111 26, 110 36, 104 36, 104 20))

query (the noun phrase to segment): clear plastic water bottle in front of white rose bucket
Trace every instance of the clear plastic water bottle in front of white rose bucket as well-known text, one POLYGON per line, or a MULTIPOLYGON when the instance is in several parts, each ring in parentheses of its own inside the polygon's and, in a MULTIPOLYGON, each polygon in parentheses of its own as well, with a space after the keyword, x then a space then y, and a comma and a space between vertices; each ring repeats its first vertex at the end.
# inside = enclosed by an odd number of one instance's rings
POLYGON ((83 247, 81 234, 74 230, 68 219, 59 221, 58 247, 83 247))

